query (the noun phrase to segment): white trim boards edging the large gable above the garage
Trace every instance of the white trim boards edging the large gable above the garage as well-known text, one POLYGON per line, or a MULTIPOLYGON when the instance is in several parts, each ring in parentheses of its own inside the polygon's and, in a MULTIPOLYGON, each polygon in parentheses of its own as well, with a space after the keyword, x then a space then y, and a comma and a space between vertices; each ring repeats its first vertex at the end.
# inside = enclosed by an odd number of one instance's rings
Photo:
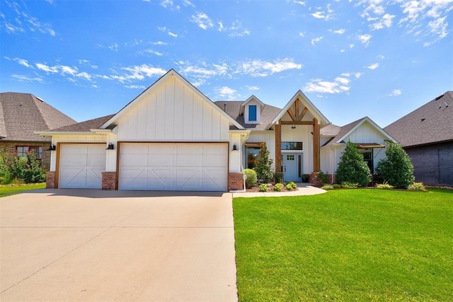
POLYGON ((239 124, 238 122, 236 122, 236 120, 234 120, 233 118, 231 118, 231 116, 227 115, 226 112, 224 112, 223 110, 220 110, 220 108, 216 105, 214 105, 214 103, 212 102, 212 100, 210 100, 209 98, 207 98, 206 95, 204 95, 203 93, 201 93, 197 88, 195 88, 195 86, 193 86, 189 81, 187 81, 186 79, 183 78, 183 76, 180 76, 180 74, 178 74, 178 72, 176 72, 174 69, 170 69, 166 74, 164 74, 164 76, 161 76, 160 79, 158 79, 157 81, 155 81, 151 86, 149 86, 145 91, 143 91, 142 93, 140 93, 137 98, 134 98, 134 100, 132 100, 129 104, 125 105, 124 108, 122 108, 120 111, 117 112, 117 114, 113 115, 113 117, 111 117, 108 121, 106 121, 104 124, 101 125, 101 127, 99 127, 100 129, 107 129, 108 127, 111 127, 116 120, 118 120, 120 117, 122 117, 122 115, 125 114, 125 112, 127 112, 127 110, 129 110, 130 108, 132 108, 135 104, 139 103, 145 95, 148 95, 149 93, 151 93, 152 91, 154 91, 157 87, 159 87, 159 84, 160 83, 163 83, 164 81, 166 81, 169 77, 171 76, 174 76, 176 77, 176 79, 178 79, 179 81, 181 81, 185 86, 187 86, 191 91, 193 91, 193 93, 195 93, 196 95, 198 95, 202 100, 204 100, 208 105, 212 106, 212 108, 214 110, 216 110, 217 112, 220 113, 220 115, 222 115, 224 118, 226 118, 226 120, 228 120, 231 124, 233 124, 234 126, 236 126, 238 129, 243 129, 243 127, 241 126, 241 124, 239 124))

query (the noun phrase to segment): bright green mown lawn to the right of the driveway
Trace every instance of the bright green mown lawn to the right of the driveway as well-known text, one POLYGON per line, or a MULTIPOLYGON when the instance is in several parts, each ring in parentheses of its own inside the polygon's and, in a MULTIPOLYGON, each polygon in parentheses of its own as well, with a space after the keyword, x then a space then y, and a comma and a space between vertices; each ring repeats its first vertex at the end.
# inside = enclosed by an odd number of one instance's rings
POLYGON ((452 301, 453 191, 234 199, 240 301, 452 301))

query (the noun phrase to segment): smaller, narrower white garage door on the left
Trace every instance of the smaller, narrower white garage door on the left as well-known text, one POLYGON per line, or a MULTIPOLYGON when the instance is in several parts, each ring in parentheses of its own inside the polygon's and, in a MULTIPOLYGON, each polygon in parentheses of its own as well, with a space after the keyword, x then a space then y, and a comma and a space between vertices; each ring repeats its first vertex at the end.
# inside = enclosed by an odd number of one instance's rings
POLYGON ((105 144, 61 144, 59 187, 101 189, 105 144))

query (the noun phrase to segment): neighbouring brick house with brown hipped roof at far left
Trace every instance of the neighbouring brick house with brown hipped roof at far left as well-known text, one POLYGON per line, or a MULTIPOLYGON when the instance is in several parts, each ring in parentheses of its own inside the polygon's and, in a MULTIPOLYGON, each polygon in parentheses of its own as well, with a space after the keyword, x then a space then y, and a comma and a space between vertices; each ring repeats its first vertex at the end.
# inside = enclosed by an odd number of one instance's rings
POLYGON ((0 93, 0 149, 26 156, 35 151, 42 168, 50 168, 50 137, 35 134, 76 123, 71 117, 30 93, 0 93))

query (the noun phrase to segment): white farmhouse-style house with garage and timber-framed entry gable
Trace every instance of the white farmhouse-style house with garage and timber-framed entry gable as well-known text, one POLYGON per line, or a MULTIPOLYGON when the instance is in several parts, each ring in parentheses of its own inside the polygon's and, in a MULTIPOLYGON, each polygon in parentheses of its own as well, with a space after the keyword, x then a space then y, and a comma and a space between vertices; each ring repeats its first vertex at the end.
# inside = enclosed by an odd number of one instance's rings
POLYGON ((254 95, 214 103, 171 69, 115 115, 37 133, 57 146, 47 187, 226 191, 243 190, 241 172, 263 141, 275 171, 300 181, 336 170, 345 140, 373 149, 391 139, 368 118, 341 129, 302 91, 282 109, 254 95))

